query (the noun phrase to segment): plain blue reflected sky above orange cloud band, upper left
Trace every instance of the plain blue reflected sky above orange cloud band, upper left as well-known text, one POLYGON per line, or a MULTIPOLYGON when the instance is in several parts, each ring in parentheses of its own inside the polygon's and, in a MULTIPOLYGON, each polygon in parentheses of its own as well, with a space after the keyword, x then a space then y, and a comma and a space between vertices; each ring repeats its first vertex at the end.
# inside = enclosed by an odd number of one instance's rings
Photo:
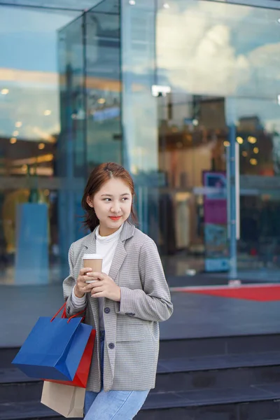
POLYGON ((57 71, 57 31, 80 13, 0 8, 0 67, 57 71))

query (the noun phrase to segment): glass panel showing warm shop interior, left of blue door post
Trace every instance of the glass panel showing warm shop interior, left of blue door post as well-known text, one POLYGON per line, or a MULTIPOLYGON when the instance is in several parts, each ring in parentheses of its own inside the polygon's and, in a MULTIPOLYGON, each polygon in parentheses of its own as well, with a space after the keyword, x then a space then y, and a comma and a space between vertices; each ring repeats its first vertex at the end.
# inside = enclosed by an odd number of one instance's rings
POLYGON ((203 272, 205 257, 215 255, 225 263, 228 258, 225 200, 223 210, 218 209, 222 220, 211 230, 205 228, 211 215, 204 202, 204 174, 225 179, 225 98, 179 92, 159 97, 158 126, 159 167, 165 174, 158 244, 165 271, 175 281, 174 276, 203 272), (221 240, 210 244, 207 238, 214 230, 221 240))

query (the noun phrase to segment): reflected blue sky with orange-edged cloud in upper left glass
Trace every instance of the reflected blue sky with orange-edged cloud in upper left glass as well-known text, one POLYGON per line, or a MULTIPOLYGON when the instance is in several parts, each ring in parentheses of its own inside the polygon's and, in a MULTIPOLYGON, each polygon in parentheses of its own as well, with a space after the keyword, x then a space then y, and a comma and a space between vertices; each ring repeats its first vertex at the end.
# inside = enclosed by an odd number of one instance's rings
POLYGON ((0 135, 54 141, 59 133, 57 31, 79 13, 1 7, 0 135))

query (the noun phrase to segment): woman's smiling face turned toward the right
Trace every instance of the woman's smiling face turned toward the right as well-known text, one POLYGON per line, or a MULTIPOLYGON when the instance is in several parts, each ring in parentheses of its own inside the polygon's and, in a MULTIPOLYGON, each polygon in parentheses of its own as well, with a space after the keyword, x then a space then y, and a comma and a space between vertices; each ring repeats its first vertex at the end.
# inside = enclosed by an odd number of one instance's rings
POLYGON ((87 197, 87 204, 94 208, 99 219, 99 234, 111 235, 130 216, 132 193, 130 187, 121 179, 110 179, 94 195, 87 197))

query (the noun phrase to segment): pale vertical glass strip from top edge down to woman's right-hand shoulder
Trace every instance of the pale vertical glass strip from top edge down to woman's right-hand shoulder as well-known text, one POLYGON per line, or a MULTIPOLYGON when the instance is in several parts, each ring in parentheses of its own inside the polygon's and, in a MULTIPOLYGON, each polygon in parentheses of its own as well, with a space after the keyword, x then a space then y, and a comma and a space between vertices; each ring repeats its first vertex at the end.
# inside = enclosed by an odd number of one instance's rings
POLYGON ((123 162, 134 175, 140 227, 158 241, 157 99, 155 85, 155 2, 121 1, 123 162))

